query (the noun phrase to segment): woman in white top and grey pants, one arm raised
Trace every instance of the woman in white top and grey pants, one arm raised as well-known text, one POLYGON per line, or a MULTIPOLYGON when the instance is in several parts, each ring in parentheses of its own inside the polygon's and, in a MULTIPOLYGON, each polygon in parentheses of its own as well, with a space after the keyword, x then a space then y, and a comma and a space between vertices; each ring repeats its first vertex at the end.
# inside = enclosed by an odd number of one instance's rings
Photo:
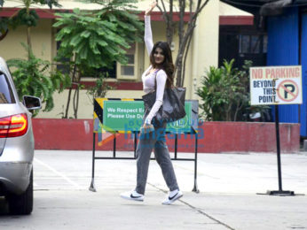
POLYGON ((166 122, 154 119, 163 103, 164 88, 173 84, 174 65, 167 42, 156 42, 153 45, 153 35, 150 25, 150 12, 156 6, 153 2, 145 14, 145 42, 151 65, 142 75, 143 88, 146 93, 156 89, 156 101, 150 111, 145 111, 141 136, 137 148, 137 187, 132 192, 122 193, 124 199, 144 201, 148 166, 152 149, 161 166, 164 180, 169 187, 169 195, 162 204, 174 203, 183 196, 177 186, 176 175, 169 157, 169 149, 165 142, 166 122), (143 134, 142 134, 143 133, 143 134))

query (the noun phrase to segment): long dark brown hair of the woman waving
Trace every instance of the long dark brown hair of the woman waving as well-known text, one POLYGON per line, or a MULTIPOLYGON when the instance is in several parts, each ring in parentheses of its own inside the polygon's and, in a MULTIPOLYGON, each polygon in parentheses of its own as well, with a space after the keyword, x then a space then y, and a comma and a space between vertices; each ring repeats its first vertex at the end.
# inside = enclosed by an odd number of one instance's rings
POLYGON ((166 80, 166 87, 170 88, 174 84, 174 70, 175 66, 173 64, 173 58, 171 56, 171 50, 169 48, 168 42, 156 42, 153 45, 152 53, 150 54, 150 63, 153 65, 153 68, 159 68, 165 71, 165 73, 168 75, 168 79, 166 80), (154 51, 160 48, 163 52, 164 61, 160 65, 157 65, 154 62, 153 54, 154 51))

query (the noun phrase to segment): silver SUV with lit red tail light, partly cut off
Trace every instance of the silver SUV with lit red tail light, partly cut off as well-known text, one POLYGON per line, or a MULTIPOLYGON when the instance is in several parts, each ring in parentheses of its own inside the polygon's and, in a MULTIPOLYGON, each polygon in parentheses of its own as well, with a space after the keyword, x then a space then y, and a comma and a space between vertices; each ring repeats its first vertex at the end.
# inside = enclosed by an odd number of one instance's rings
POLYGON ((35 96, 24 96, 20 102, 0 58, 0 196, 5 196, 11 214, 30 214, 33 209, 34 137, 28 110, 40 108, 35 96))

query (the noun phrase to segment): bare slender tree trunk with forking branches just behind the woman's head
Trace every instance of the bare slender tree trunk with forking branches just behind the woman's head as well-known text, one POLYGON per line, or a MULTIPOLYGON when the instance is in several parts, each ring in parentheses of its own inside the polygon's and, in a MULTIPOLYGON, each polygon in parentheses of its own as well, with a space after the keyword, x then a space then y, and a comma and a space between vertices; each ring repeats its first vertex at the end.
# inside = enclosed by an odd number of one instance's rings
MULTIPOLYGON (((173 20, 174 0, 169 0, 169 9, 166 7, 165 0, 160 0, 161 6, 158 5, 159 10, 163 14, 163 19, 166 22, 166 35, 169 44, 173 41, 175 23, 173 20)), ((178 0, 176 1, 179 6, 179 22, 178 22, 178 54, 175 61, 175 71, 177 73, 177 86, 183 86, 185 81, 185 63, 189 51, 190 43, 193 37, 193 30, 196 27, 196 21, 203 10, 209 3, 209 0, 197 0, 194 4, 193 0, 178 0), (189 7, 189 21, 185 27, 185 11, 189 7)))

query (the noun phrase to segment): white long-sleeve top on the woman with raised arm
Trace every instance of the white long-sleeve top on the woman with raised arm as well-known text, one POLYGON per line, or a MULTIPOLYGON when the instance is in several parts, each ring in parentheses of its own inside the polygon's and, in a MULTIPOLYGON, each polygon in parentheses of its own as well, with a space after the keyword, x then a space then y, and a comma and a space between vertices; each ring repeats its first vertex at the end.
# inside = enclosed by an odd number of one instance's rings
MULTIPOLYGON (((145 35, 144 41, 146 43, 146 50, 148 52, 148 56, 150 56, 153 50, 153 33, 152 27, 150 23, 150 16, 145 16, 145 35)), ((142 74, 142 81, 143 81, 143 90, 144 92, 150 93, 155 89, 155 80, 156 80, 156 96, 155 96, 155 103, 153 103, 153 108, 148 113, 145 123, 151 124, 153 117, 159 111, 162 103, 163 103, 163 95, 164 95, 164 88, 165 83, 168 78, 167 74, 163 70, 159 70, 157 73, 149 73, 150 70, 153 68, 150 65, 146 71, 142 74)))

